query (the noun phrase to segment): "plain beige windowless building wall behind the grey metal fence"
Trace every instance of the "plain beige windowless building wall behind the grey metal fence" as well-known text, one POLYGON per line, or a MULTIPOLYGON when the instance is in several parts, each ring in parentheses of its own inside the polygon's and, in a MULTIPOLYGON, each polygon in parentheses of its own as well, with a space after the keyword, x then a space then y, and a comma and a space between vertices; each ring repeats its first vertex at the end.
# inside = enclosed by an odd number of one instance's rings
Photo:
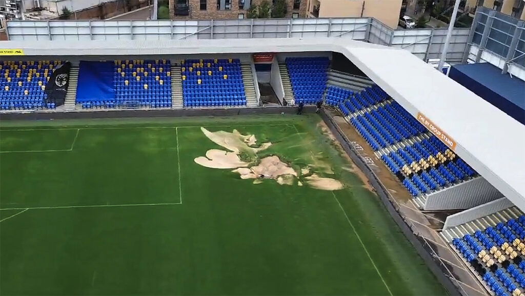
POLYGON ((402 4, 403 0, 308 0, 307 17, 374 17, 396 28, 402 4))

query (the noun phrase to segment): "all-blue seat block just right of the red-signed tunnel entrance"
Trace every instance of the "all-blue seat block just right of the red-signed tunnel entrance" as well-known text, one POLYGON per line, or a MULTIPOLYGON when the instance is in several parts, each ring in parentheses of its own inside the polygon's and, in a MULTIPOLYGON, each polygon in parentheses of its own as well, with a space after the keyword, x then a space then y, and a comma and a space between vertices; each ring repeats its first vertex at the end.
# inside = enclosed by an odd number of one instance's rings
POLYGON ((285 62, 296 104, 316 104, 322 100, 328 81, 330 59, 287 57, 285 62))

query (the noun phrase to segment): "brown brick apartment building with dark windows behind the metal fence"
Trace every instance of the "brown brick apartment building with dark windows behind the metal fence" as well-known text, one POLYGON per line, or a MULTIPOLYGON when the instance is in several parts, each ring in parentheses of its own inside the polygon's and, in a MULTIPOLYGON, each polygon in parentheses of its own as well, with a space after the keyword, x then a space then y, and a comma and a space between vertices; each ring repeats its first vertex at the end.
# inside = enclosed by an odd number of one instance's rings
MULTIPOLYGON (((172 19, 243 19, 247 17, 250 5, 261 1, 263 0, 170 0, 170 15, 172 19)), ((308 0, 286 2, 286 17, 306 17, 308 0)))

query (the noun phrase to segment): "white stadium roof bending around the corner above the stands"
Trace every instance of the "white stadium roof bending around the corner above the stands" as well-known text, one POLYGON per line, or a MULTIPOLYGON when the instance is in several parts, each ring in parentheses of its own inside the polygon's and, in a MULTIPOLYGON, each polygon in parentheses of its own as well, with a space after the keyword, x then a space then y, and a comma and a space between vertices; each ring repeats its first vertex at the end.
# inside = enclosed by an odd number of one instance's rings
POLYGON ((0 49, 31 56, 338 52, 414 117, 432 121, 456 154, 525 211, 525 126, 403 49, 344 38, 9 41, 0 49))

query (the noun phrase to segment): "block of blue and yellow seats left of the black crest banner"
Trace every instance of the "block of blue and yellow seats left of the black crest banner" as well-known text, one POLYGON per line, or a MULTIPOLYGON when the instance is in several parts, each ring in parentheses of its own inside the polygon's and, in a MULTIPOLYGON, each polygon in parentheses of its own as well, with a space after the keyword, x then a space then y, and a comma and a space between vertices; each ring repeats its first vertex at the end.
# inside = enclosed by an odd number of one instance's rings
POLYGON ((60 60, 0 60, 0 109, 55 109, 47 103, 45 88, 60 60))

